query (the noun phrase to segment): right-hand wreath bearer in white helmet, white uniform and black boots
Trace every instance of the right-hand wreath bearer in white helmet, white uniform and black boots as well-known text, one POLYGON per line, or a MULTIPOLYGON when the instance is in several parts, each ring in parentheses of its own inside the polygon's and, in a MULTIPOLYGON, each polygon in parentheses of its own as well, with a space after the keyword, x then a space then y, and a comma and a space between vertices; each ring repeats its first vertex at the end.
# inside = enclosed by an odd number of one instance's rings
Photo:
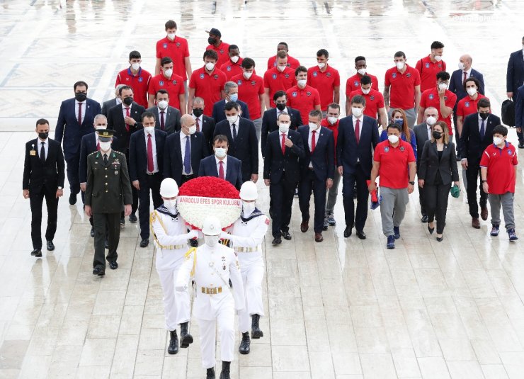
POLYGON ((229 233, 222 232, 220 237, 232 242, 234 251, 238 254, 240 273, 246 293, 246 307, 239 312, 239 329, 242 334, 239 352, 249 354, 249 324, 251 321, 251 338, 259 339, 264 334, 258 326, 260 317, 264 315, 262 302, 262 279, 264 277, 264 261, 262 257, 262 242, 268 231, 269 219, 255 206, 258 193, 256 184, 246 181, 240 187, 242 213, 229 233))

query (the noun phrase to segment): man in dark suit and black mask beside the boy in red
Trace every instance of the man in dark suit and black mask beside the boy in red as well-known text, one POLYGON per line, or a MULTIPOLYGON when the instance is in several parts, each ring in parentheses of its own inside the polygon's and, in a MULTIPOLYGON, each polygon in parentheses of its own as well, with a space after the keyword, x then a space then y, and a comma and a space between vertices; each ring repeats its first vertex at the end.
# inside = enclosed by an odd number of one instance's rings
MULTIPOLYGON (((487 98, 481 98, 477 103, 478 113, 468 115, 462 126, 460 135, 460 157, 462 168, 466 169, 467 177, 467 203, 469 215, 472 217, 472 227, 480 229, 479 203, 477 203, 477 181, 480 174, 480 159, 482 153, 493 143, 493 128, 500 125, 501 119, 492 115, 491 104, 487 98)), ((480 215, 482 220, 488 219, 487 193, 480 189, 480 215)))

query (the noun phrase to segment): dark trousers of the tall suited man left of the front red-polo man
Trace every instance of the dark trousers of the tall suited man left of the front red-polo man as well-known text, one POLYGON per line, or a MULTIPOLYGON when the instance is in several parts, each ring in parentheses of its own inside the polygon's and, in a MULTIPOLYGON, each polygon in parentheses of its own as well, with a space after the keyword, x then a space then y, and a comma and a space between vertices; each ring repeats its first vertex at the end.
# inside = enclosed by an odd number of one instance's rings
POLYGON ((342 176, 342 199, 344 205, 344 215, 346 217, 346 227, 355 227, 358 232, 364 230, 365 220, 368 219, 368 181, 370 173, 365 173, 359 163, 355 166, 353 174, 343 173, 342 176), (357 188, 357 210, 355 215, 355 203, 353 191, 356 183, 357 188))

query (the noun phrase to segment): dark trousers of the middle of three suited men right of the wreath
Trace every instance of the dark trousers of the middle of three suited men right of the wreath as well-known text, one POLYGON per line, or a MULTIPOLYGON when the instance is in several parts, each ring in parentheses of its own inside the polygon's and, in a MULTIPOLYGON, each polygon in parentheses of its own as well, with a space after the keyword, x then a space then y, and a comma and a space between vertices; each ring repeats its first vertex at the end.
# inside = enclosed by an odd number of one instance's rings
POLYGON ((315 233, 321 233, 326 213, 326 181, 319 180, 314 170, 308 169, 298 185, 298 204, 304 222, 309 221, 309 200, 312 191, 315 205, 313 230, 315 233))

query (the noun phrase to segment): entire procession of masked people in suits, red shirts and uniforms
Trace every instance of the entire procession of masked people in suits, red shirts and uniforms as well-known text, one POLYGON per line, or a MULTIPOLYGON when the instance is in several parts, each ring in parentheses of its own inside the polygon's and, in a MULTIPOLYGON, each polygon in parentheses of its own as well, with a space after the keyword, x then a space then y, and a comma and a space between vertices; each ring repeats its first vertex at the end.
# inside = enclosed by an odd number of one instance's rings
MULTIPOLYGON (((369 195, 378 191, 386 247, 394 249, 417 177, 421 222, 427 223, 430 234, 436 227, 440 242, 449 194, 457 196, 460 188, 458 161, 472 227, 480 228, 479 217, 487 220, 489 200, 491 235, 499 234, 502 208, 508 238, 517 239, 513 215, 517 150, 506 140, 508 128, 492 113, 483 76, 472 68, 471 56, 462 55, 458 69, 449 74, 443 43, 431 43, 429 54, 414 67, 406 63, 404 52, 395 52, 383 93, 377 77, 368 72, 365 57, 355 57, 356 74, 346 81, 346 117, 341 118, 341 78, 331 67, 327 50, 318 50, 317 65, 307 68, 289 55, 286 43, 279 43, 259 76, 254 60, 240 57, 239 47, 222 42, 220 30, 212 28, 203 66, 193 70, 188 41, 177 35, 176 23, 166 22, 165 30, 166 37, 156 43, 154 75, 142 68, 140 53, 132 51, 129 67, 115 80, 115 98, 101 106, 88 98, 88 84, 77 81, 74 98, 59 108, 54 139, 49 137, 49 122, 37 121, 38 137, 25 146, 23 196, 30 199, 33 214, 31 254, 40 257, 42 202, 45 198, 45 239, 51 251, 67 173, 69 204, 74 205, 81 193, 91 222, 93 274, 98 276, 105 275, 106 261, 111 269, 118 268, 125 217, 130 223, 139 222, 140 247, 147 247, 153 234, 166 329, 171 332, 169 353, 178 351, 176 325, 181 324, 181 347, 193 341, 188 334, 187 283, 190 271, 205 271, 198 263, 186 264, 190 259, 184 258, 185 253, 190 246, 212 253, 219 238, 228 239, 238 253, 240 267, 234 255, 224 253, 231 281, 240 283, 233 286, 246 287, 241 296, 246 309, 240 352, 249 353, 250 317, 252 338, 263 336, 258 326, 263 315, 261 243, 269 224, 272 244, 292 239, 295 196, 302 215, 300 231, 306 233, 313 194, 314 240, 322 242, 322 232, 336 225, 334 206, 341 181, 346 238, 354 228, 359 239, 366 239, 369 195), (259 149, 270 218, 254 206, 259 149), (216 233, 220 220, 209 220, 200 247, 195 239, 199 234, 186 229, 176 210, 178 187, 198 176, 229 181, 243 202, 239 223, 227 236, 216 233)), ((511 54, 506 75, 507 96, 515 98, 518 148, 524 147, 523 51, 524 38, 523 50, 511 54)), ((259 66, 258 72, 263 69, 259 66)), ((206 281, 205 276, 197 279, 203 283, 199 284, 203 295, 218 295, 216 286, 205 285, 206 281)), ((215 375, 209 370, 215 366, 215 322, 221 325, 226 363, 232 358, 231 338, 234 341, 233 308, 227 305, 221 313, 213 306, 203 304, 197 317, 201 333, 207 331, 201 336, 201 348, 208 378, 215 375)), ((229 375, 229 365, 222 373, 229 375)))

